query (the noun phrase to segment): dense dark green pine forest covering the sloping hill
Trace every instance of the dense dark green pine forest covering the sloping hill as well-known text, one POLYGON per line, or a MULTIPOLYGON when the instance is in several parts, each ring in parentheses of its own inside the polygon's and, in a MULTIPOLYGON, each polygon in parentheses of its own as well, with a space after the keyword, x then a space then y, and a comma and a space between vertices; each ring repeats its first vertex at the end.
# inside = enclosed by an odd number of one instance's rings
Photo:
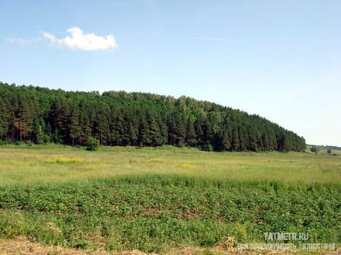
POLYGON ((303 151, 305 140, 258 115, 182 96, 69 92, 0 83, 0 140, 84 145, 303 151))

